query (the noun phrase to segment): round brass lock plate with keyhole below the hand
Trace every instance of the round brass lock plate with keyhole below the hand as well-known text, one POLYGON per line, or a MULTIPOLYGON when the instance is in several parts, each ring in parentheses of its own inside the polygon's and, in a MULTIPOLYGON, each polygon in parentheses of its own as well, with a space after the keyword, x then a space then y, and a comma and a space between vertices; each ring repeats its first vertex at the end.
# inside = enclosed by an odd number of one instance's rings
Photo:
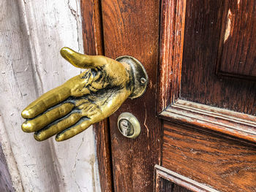
POLYGON ((124 137, 135 139, 140 134, 140 122, 129 112, 119 115, 117 125, 124 137))

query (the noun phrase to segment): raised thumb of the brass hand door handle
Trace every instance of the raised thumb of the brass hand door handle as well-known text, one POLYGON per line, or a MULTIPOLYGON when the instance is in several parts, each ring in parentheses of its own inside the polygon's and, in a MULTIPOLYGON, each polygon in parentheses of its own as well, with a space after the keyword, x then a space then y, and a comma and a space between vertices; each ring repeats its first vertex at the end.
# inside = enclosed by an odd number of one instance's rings
POLYGON ((78 68, 95 68, 106 64, 106 58, 104 56, 83 55, 68 47, 61 49, 61 55, 69 61, 70 64, 78 68))

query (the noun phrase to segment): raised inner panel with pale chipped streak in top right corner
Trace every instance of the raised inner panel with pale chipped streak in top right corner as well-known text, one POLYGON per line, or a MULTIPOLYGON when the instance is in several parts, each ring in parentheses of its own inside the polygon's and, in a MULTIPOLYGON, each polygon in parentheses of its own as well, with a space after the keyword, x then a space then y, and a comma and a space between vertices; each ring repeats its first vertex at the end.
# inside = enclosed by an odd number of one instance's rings
POLYGON ((217 72, 256 80, 256 1, 226 0, 224 9, 217 72))

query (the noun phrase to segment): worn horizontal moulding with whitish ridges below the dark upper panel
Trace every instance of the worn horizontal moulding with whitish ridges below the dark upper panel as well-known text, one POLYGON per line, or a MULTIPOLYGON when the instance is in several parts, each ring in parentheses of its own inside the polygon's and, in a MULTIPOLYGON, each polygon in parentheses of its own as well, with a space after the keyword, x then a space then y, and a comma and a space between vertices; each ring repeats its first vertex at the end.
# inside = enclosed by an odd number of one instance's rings
POLYGON ((179 99, 161 112, 159 117, 256 142, 256 117, 253 115, 179 99))

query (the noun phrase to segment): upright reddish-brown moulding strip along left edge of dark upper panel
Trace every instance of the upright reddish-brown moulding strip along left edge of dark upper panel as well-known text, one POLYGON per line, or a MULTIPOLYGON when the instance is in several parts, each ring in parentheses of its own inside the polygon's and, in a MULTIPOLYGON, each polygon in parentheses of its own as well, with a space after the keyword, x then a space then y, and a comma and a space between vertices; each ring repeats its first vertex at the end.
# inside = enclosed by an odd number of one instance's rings
POLYGON ((162 1, 158 113, 173 104, 180 93, 185 13, 185 0, 162 1))

